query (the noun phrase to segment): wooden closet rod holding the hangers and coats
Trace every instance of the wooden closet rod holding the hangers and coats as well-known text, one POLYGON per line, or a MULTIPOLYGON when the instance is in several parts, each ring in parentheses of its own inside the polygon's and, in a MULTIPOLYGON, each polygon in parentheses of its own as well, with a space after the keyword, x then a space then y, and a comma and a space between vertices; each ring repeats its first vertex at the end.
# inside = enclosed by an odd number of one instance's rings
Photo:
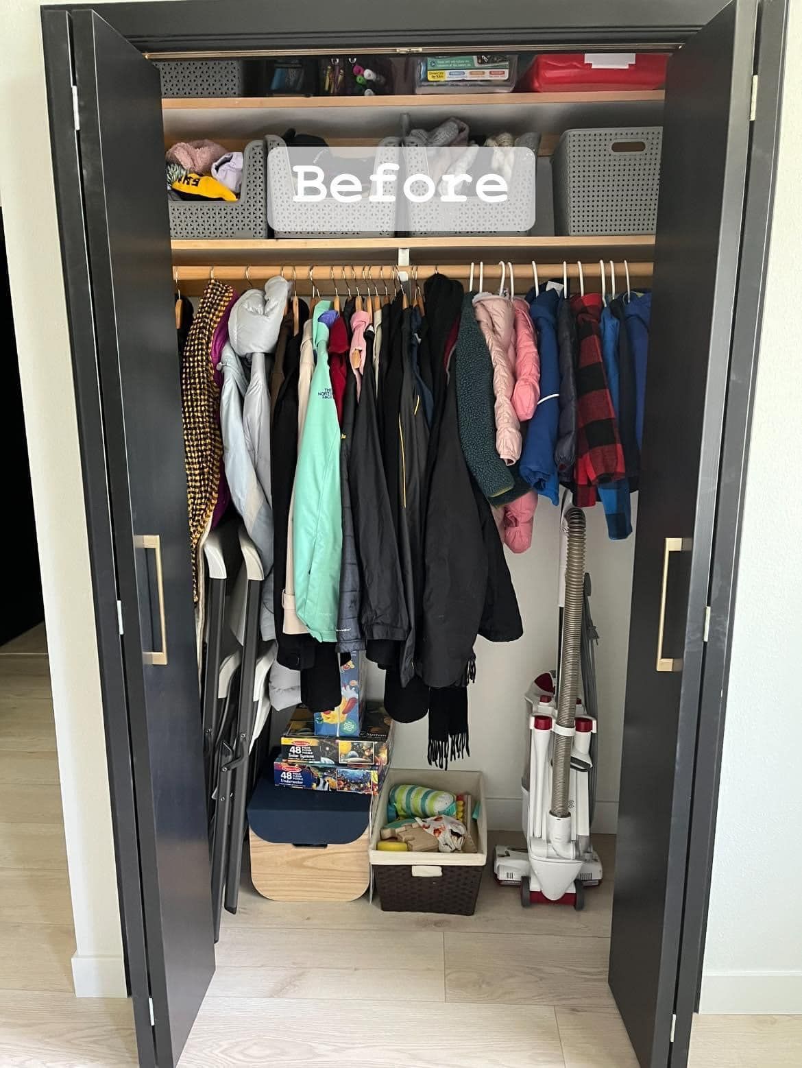
MULTIPOLYGON (((602 261, 604 265, 604 271, 607 277, 610 277, 610 261, 602 261)), ((501 277, 502 267, 497 261, 484 261, 484 273, 490 278, 496 276, 501 277)), ((535 261, 535 266, 537 267, 538 278, 562 278, 563 276, 563 261, 559 263, 539 263, 535 261)), ((581 261, 582 266, 582 277, 583 278, 600 278, 601 268, 599 267, 598 261, 585 262, 581 261)), ((629 262, 627 261, 614 261, 613 267, 615 270, 616 278, 622 280, 626 276, 627 268, 632 277, 636 278, 650 278, 652 271, 651 263, 643 262, 629 262), (620 273, 619 273, 620 272, 620 273)), ((473 263, 473 273, 476 279, 478 279, 479 261, 476 260, 473 263)), ((173 268, 173 278, 176 282, 208 282, 213 278, 218 279, 220 282, 255 282, 264 281, 268 278, 277 278, 283 274, 287 281, 292 281, 294 278, 297 281, 308 282, 310 280, 310 271, 312 271, 312 278, 318 286, 328 286, 329 283, 333 281, 341 284, 341 282, 365 282, 368 277, 372 282, 380 282, 381 277, 387 281, 392 279, 395 271, 406 272, 406 277, 416 278, 419 281, 424 281, 427 278, 431 278, 433 274, 447 274, 450 278, 468 278, 471 273, 471 264, 447 264, 444 263, 442 267, 431 266, 431 265, 414 265, 408 267, 396 267, 394 264, 350 264, 348 262, 341 264, 284 264, 284 266, 247 266, 247 267, 230 267, 230 266, 182 266, 173 268), (345 273, 343 273, 343 269, 345 273), (333 271, 333 276, 332 276, 333 271), (295 272, 295 273, 294 273, 295 272)), ((507 262, 504 262, 504 271, 508 271, 507 262)), ((514 263, 513 271, 516 276, 520 276, 521 280, 529 279, 532 276, 532 262, 526 263, 514 263)), ((568 278, 579 278, 580 267, 579 264, 566 261, 566 272, 568 278)))

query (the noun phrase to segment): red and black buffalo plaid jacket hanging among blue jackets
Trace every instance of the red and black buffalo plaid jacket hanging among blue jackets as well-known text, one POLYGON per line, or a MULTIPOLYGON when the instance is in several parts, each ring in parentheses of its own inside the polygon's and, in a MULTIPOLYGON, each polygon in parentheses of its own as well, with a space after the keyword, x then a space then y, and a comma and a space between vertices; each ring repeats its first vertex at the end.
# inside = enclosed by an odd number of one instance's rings
POLYGON ((579 362, 577 364, 577 460, 575 502, 581 508, 595 504, 596 486, 624 478, 624 450, 610 389, 601 359, 599 321, 601 294, 570 298, 577 320, 579 362))

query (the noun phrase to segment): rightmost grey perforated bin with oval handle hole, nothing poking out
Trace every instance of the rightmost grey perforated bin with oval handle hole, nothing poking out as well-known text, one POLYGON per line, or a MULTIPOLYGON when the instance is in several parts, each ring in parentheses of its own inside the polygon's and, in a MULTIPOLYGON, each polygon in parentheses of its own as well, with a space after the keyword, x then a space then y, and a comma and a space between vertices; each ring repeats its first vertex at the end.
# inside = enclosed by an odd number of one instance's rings
POLYGON ((654 234, 661 126, 566 130, 552 158, 559 234, 654 234))

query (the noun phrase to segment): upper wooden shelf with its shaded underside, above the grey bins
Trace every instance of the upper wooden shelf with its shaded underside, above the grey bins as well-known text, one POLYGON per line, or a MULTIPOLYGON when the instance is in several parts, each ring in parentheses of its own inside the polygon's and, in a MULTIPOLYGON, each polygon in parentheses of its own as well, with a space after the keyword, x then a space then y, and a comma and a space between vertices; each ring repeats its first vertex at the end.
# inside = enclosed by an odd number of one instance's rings
POLYGON ((162 115, 168 141, 195 137, 223 144, 266 132, 281 134, 302 124, 303 131, 327 138, 360 138, 398 132, 403 112, 414 122, 436 125, 456 114, 488 132, 524 129, 561 134, 578 126, 657 125, 664 93, 451 93, 408 96, 266 96, 164 98, 162 115))

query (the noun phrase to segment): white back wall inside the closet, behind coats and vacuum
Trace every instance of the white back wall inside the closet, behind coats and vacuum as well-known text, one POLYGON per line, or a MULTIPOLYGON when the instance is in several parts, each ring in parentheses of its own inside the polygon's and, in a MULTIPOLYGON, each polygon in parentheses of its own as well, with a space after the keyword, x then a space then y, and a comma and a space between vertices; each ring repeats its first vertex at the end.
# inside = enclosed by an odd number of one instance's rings
MULTIPOLYGON (((633 498, 633 514, 636 498, 633 498)), ((601 505, 586 512, 587 570, 593 582, 591 611, 599 631, 596 668, 599 695, 599 778, 594 828, 615 831, 618 811, 624 690, 627 675, 629 602, 632 592, 634 536, 611 541, 601 505)), ((634 515, 633 515, 634 518, 634 515)), ((468 689, 471 755, 455 768, 484 772, 491 827, 519 829, 521 772, 526 744, 523 694, 540 672, 556 662, 557 556, 560 512, 540 499, 531 549, 507 552, 523 619, 523 638, 508 644, 476 643, 476 681, 468 689)), ((383 672, 373 668, 368 695, 381 697, 383 672)), ((393 763, 399 768, 426 767, 427 723, 398 724, 393 763)))

